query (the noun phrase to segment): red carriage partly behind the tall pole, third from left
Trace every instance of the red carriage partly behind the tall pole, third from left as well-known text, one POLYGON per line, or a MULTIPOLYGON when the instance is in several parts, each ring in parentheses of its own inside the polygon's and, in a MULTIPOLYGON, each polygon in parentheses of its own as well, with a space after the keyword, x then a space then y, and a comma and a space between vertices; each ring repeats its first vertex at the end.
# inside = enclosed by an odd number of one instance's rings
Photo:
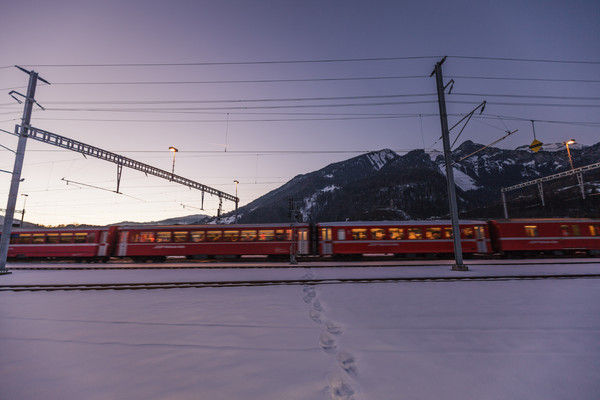
MULTIPOLYGON (((317 224, 321 255, 426 255, 454 252, 450 221, 327 222, 317 224)), ((488 227, 460 221, 462 251, 490 253, 488 227)))

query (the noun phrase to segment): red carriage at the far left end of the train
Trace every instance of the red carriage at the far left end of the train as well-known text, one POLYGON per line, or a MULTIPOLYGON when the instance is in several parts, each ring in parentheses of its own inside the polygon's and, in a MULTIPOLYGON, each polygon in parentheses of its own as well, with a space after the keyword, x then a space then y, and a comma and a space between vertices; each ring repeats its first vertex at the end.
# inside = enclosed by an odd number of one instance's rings
POLYGON ((108 261, 115 228, 13 229, 9 259, 108 261))

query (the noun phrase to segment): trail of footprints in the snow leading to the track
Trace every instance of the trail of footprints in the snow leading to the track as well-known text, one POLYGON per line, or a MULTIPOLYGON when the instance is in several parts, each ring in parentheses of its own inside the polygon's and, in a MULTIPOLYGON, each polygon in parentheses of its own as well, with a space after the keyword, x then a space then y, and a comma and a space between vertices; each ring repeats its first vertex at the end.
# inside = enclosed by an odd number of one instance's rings
MULTIPOLYGON (((312 271, 307 269, 304 279, 312 279, 312 271)), ((321 349, 332 356, 335 365, 327 376, 327 392, 331 400, 356 400, 357 388, 354 378, 358 376, 358 368, 354 356, 338 346, 337 337, 343 333, 343 328, 327 319, 323 307, 317 298, 314 285, 302 287, 302 299, 310 306, 309 316, 322 326, 319 336, 321 349)))

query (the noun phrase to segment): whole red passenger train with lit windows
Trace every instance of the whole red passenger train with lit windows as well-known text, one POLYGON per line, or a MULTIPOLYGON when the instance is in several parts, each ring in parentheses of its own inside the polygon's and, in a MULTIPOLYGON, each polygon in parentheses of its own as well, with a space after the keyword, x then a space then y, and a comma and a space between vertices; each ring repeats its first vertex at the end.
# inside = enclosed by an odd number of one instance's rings
MULTIPOLYGON (((465 255, 600 255, 600 220, 460 221, 465 255)), ((312 224, 139 225, 89 229, 14 229, 9 259, 164 261, 269 256, 451 255, 449 221, 312 224)))

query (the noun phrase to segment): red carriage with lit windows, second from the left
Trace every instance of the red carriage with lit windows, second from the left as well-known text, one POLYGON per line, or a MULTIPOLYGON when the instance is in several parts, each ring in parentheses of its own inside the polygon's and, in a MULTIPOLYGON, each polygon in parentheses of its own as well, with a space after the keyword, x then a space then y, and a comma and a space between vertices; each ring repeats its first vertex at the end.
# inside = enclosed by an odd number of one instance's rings
POLYGON ((307 254, 308 233, 307 224, 120 226, 115 255, 162 261, 169 256, 307 254))

